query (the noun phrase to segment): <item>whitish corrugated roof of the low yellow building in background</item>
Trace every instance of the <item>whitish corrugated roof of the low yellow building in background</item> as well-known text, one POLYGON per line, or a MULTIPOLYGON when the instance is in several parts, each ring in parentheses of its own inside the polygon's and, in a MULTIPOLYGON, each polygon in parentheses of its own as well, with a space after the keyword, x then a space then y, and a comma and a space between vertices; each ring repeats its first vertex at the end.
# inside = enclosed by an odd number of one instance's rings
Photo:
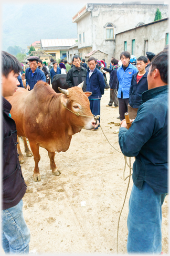
POLYGON ((76 43, 77 38, 71 39, 41 39, 42 47, 69 47, 76 43))

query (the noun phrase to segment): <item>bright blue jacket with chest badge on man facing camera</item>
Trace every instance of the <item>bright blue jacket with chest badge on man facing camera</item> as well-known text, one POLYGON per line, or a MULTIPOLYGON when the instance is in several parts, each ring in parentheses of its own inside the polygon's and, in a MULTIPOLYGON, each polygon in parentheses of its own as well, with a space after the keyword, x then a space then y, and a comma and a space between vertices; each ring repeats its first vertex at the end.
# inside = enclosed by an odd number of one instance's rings
POLYGON ((119 81, 118 98, 121 98, 121 92, 123 92, 123 99, 129 98, 129 89, 131 86, 132 75, 137 72, 138 72, 137 68, 132 64, 129 64, 129 66, 126 68, 125 71, 123 70, 122 66, 118 68, 118 71, 117 71, 117 76, 119 81))

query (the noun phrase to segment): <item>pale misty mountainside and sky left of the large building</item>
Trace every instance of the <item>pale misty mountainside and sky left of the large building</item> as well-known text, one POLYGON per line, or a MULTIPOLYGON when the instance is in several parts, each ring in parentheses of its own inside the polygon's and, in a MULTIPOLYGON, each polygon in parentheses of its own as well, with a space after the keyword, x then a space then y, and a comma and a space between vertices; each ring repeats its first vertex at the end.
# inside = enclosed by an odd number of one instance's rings
POLYGON ((27 49, 40 39, 77 38, 74 16, 82 2, 64 4, 2 4, 2 50, 8 46, 27 49))

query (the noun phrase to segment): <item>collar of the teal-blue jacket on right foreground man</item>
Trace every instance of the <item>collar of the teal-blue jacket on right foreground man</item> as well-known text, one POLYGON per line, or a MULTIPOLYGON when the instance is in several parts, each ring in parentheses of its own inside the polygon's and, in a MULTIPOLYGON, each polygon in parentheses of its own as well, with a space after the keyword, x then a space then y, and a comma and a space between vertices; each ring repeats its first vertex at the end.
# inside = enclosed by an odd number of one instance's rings
POLYGON ((142 101, 146 102, 148 100, 153 99, 157 95, 167 93, 167 92, 168 92, 168 85, 163 85, 160 87, 152 88, 152 89, 142 93, 142 101))

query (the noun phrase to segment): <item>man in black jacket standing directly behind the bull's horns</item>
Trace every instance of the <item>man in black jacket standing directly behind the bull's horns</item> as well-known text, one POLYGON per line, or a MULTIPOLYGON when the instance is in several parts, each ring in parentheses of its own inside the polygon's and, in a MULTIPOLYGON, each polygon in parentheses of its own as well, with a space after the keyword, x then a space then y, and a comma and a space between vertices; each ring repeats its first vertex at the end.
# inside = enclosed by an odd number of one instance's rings
POLYGON ((74 66, 68 71, 66 76, 66 83, 71 88, 73 86, 78 86, 82 82, 84 85, 82 87, 83 92, 86 92, 86 68, 80 65, 81 58, 79 55, 74 55, 72 58, 74 66))

